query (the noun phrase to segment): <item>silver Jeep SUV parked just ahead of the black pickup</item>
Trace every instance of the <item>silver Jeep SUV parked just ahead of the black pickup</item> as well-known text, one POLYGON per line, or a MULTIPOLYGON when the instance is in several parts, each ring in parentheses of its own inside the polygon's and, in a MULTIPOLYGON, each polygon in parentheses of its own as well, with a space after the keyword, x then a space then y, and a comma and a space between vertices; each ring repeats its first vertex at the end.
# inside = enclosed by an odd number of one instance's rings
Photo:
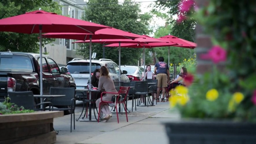
MULTIPOLYGON (((106 66, 109 71, 109 75, 112 80, 115 82, 119 81, 119 67, 115 62, 110 59, 99 59, 91 61, 91 74, 95 69, 100 69, 102 66, 106 66)), ((67 68, 69 73, 75 79, 76 88, 87 88, 87 82, 90 75, 90 61, 83 59, 73 59, 67 63, 67 68)), ((121 82, 129 82, 129 78, 125 75, 127 71, 121 71, 121 82)), ((82 94, 77 94, 76 97, 78 100, 82 100, 80 97, 82 94)))

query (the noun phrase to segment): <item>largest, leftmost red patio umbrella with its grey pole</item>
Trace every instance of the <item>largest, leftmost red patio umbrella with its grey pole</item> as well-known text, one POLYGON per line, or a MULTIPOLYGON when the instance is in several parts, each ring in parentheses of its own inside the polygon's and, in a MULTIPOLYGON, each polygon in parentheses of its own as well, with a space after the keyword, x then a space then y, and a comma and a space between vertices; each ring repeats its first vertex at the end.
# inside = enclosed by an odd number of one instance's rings
MULTIPOLYGON (((19 32, 26 34, 39 33, 40 63, 42 63, 42 32, 94 33, 95 31, 103 28, 111 27, 73 19, 56 13, 45 12, 43 10, 26 12, 25 14, 0 20, 0 31, 2 32, 19 32)), ((40 64, 40 95, 43 95, 42 79, 43 71, 42 64, 40 64)))

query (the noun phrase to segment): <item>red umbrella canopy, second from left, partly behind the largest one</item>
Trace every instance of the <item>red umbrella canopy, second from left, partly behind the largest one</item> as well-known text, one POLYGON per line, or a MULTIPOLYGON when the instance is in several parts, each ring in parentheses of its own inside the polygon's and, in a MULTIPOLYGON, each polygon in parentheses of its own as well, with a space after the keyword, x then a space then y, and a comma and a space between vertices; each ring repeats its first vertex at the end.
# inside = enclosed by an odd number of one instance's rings
MULTIPOLYGON (((135 38, 144 38, 144 36, 133 34, 130 32, 122 31, 120 29, 115 28, 105 28, 100 29, 95 32, 95 34, 91 33, 46 33, 43 34, 43 38, 66 38, 66 39, 74 39, 74 40, 90 40, 90 35, 92 40, 99 39, 135 39, 135 38)), ((89 43, 89 42, 88 42, 89 43)))

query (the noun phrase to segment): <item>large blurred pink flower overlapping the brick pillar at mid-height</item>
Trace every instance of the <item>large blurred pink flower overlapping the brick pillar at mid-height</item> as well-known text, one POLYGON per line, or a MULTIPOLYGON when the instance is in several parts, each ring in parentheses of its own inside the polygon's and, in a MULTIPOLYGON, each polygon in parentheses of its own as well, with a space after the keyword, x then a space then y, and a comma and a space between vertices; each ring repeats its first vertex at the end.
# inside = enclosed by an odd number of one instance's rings
POLYGON ((202 60, 211 59, 213 63, 217 64, 221 61, 226 61, 226 50, 222 47, 215 45, 213 46, 207 54, 200 55, 202 60))

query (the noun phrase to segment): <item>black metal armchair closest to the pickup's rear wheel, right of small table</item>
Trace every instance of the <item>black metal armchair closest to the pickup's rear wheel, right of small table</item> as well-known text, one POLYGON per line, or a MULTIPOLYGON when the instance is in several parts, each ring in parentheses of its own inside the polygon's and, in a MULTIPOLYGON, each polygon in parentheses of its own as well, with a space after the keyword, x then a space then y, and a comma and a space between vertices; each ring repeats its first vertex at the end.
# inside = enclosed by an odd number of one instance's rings
POLYGON ((70 132, 72 132, 72 114, 75 130, 75 88, 50 88, 50 95, 65 95, 65 97, 58 97, 51 99, 51 103, 55 107, 53 110, 69 110, 71 113, 70 132))

